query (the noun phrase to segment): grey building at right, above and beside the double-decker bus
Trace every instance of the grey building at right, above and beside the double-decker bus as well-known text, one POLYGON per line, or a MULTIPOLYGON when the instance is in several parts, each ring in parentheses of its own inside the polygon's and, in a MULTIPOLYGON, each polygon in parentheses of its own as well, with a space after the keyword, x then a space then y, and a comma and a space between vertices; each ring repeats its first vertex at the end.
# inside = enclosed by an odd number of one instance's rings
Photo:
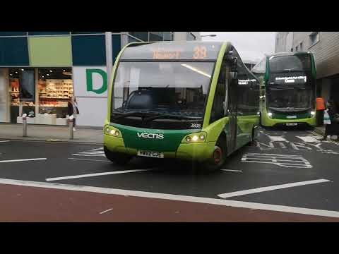
POLYGON ((317 96, 339 102, 339 32, 277 32, 275 52, 311 52, 317 96))

